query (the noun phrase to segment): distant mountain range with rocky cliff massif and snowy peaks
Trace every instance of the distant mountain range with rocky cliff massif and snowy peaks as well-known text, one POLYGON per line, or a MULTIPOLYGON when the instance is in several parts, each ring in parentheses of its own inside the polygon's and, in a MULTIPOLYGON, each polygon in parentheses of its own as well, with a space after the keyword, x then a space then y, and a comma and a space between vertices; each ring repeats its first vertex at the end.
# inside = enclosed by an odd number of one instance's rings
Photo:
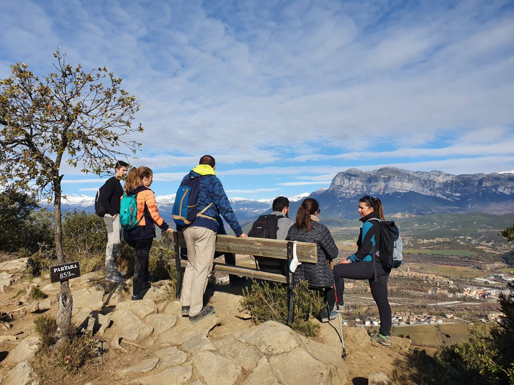
MULTIPOLYGON (((429 215, 478 211, 490 214, 514 212, 514 173, 452 175, 442 171, 410 171, 383 167, 373 171, 350 168, 339 172, 327 189, 290 197, 291 216, 305 197, 318 200, 323 217, 355 219, 359 198, 380 198, 384 213, 429 215)), ((171 220, 175 195, 157 196, 159 212, 171 220)), ((68 195, 62 209, 94 212, 95 197, 68 195)), ((230 198, 241 222, 271 211, 273 199, 230 198)), ((43 204, 42 204, 43 205, 43 204)))

